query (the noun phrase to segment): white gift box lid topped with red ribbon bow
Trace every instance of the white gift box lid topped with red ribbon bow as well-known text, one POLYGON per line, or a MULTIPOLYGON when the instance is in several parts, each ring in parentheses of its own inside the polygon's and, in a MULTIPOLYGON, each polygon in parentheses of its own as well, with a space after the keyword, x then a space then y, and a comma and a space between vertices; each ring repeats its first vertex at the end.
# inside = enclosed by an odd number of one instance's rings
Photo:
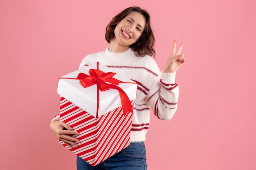
POLYGON ((97 62, 60 77, 57 93, 99 117, 121 105, 132 112, 130 101, 136 98, 137 83, 97 62))

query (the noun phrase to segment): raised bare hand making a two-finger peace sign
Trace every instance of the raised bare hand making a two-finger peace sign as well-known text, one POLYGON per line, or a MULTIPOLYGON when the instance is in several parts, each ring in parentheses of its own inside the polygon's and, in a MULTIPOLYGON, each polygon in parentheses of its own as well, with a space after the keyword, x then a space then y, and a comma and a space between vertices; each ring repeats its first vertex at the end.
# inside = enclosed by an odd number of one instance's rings
POLYGON ((173 47, 171 49, 171 55, 168 57, 166 65, 164 66, 164 73, 177 72, 180 66, 186 61, 183 59, 185 54, 181 54, 183 44, 180 44, 178 51, 176 52, 176 41, 173 41, 173 47))

